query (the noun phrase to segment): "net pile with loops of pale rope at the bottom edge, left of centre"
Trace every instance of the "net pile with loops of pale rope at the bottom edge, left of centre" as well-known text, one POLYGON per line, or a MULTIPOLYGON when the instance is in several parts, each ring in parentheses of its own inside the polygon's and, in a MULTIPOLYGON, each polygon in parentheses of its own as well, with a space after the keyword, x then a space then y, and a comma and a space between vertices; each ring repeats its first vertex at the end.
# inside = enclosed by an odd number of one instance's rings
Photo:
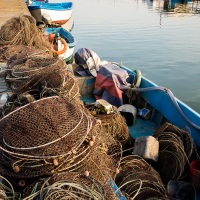
POLYGON ((103 185, 91 176, 76 172, 55 174, 26 187, 25 200, 54 199, 118 199, 109 184, 103 185))

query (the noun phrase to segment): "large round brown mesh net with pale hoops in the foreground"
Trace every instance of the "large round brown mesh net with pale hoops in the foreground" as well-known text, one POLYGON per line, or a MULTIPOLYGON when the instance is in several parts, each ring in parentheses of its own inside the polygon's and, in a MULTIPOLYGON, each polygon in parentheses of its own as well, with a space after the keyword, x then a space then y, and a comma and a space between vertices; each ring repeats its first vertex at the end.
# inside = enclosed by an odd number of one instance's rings
POLYGON ((31 178, 54 173, 62 162, 73 160, 74 152, 88 148, 84 141, 96 134, 95 124, 85 109, 60 97, 20 107, 0 120, 1 174, 31 178))

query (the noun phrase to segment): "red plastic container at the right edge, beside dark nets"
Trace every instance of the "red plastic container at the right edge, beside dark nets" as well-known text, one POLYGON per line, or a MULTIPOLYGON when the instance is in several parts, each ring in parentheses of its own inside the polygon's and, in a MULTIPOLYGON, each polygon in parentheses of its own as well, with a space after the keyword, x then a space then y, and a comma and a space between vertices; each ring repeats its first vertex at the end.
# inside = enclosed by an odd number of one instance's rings
POLYGON ((193 160, 190 164, 190 182, 200 191, 200 160, 193 160))

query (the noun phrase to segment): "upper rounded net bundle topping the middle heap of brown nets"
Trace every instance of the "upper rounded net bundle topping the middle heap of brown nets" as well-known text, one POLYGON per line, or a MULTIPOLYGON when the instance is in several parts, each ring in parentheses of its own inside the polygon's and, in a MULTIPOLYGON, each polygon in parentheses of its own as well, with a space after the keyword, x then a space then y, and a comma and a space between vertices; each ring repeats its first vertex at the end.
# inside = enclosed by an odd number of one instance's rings
POLYGON ((59 88, 65 79, 66 64, 44 55, 30 55, 10 62, 6 82, 14 92, 25 92, 45 82, 46 87, 59 88))

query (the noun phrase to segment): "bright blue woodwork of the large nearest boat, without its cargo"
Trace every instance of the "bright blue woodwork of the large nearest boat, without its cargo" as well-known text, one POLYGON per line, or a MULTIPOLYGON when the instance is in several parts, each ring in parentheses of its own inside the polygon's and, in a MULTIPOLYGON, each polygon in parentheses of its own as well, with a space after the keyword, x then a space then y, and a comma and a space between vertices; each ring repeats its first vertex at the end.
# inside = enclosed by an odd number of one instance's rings
MULTIPOLYGON (((132 77, 138 76, 137 70, 133 72, 124 66, 120 67, 125 69, 132 77)), ((140 75, 138 78, 140 78, 140 75)), ((85 102, 85 104, 94 103, 96 99, 93 96, 93 86, 96 78, 78 77, 78 80, 81 88, 83 88, 81 91, 82 100, 85 102), (85 85, 82 85, 82 83, 85 85)), ((137 106, 138 110, 144 108, 143 112, 148 112, 148 117, 146 117, 147 113, 143 113, 143 116, 141 117, 141 113, 139 114, 138 112, 135 122, 133 125, 129 126, 129 132, 132 138, 136 139, 140 136, 151 136, 153 135, 154 131, 164 123, 171 123, 180 129, 187 130, 187 132, 192 135, 197 149, 199 150, 199 113, 195 112, 188 105, 177 99, 169 89, 160 87, 143 76, 141 78, 139 87, 137 86, 132 90, 138 95, 137 105, 133 103, 133 106, 137 106)), ((126 198, 122 196, 120 199, 126 198)), ((200 199, 200 192, 198 191, 196 191, 196 199, 200 199)))

